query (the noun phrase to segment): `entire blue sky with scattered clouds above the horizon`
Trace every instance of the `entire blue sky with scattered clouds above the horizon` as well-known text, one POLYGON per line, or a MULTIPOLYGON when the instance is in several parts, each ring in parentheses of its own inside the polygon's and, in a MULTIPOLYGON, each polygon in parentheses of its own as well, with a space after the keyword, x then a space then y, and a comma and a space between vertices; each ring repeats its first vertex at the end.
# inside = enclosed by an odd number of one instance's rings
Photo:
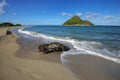
POLYGON ((0 23, 62 25, 74 15, 95 25, 120 25, 120 0, 0 0, 0 23))

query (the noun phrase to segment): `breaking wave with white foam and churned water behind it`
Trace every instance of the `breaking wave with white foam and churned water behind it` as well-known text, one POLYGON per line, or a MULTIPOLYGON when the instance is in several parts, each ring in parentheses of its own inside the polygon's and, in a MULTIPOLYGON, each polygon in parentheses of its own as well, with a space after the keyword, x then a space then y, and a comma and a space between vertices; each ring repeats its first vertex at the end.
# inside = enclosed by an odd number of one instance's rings
POLYGON ((89 54, 94 56, 99 56, 117 63, 120 63, 120 51, 109 51, 107 48, 104 47, 104 44, 100 42, 93 42, 93 41, 78 41, 75 39, 71 39, 70 37, 54 37, 54 36, 48 36, 41 33, 36 33, 32 31, 24 30, 24 28, 21 28, 18 30, 18 32, 27 34, 34 37, 42 37, 45 39, 55 40, 55 41, 63 41, 68 42, 73 45, 73 48, 70 51, 64 52, 61 55, 61 60, 63 61, 63 56, 70 54, 70 55, 76 55, 76 54, 89 54), (116 53, 116 54, 113 54, 116 53))

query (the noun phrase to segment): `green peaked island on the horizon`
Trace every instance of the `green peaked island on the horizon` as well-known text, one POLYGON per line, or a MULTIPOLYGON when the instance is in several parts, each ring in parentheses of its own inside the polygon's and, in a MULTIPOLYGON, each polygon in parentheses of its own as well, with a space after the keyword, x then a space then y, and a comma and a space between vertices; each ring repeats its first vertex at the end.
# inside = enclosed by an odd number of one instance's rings
POLYGON ((63 23, 63 26, 94 26, 94 24, 88 20, 82 20, 77 15, 63 23))

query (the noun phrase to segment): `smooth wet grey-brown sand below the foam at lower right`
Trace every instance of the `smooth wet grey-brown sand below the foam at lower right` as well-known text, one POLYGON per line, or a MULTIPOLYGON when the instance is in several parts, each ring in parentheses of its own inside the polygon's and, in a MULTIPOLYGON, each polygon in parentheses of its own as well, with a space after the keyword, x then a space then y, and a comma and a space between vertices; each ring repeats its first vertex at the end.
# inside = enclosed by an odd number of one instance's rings
POLYGON ((65 65, 79 80, 120 80, 120 64, 92 55, 66 55, 65 65))

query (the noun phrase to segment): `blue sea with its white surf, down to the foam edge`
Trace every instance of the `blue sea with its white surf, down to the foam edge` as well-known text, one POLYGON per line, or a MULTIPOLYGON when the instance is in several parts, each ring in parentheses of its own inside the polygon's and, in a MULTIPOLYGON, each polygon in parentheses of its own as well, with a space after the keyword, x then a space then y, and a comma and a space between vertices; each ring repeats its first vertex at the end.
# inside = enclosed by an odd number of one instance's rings
POLYGON ((18 30, 20 33, 46 41, 68 43, 71 50, 63 56, 88 54, 120 63, 120 26, 59 26, 31 25, 18 30))

